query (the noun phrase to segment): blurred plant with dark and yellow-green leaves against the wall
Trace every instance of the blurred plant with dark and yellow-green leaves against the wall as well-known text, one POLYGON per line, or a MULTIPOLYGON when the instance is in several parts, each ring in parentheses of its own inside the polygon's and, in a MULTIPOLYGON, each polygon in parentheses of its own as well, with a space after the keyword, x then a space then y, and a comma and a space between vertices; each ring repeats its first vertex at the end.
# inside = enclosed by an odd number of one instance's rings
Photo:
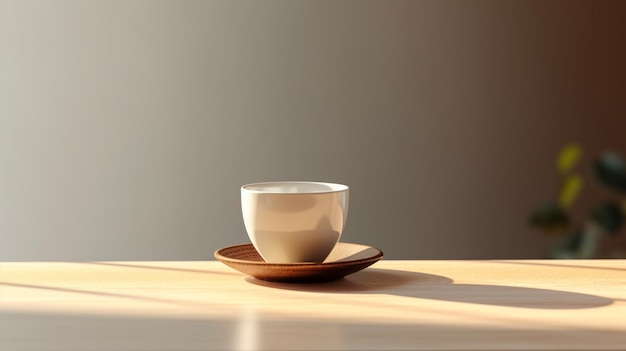
MULTIPOLYGON (((530 225, 544 233, 560 237, 551 251, 553 258, 595 258, 598 244, 607 236, 620 232, 626 213, 626 200, 607 200, 594 207, 582 224, 571 218, 571 207, 585 186, 584 177, 575 171, 582 159, 583 149, 578 144, 565 146, 557 157, 557 169, 563 177, 563 185, 556 201, 550 201, 535 209, 529 218, 530 225)), ((608 151, 600 154, 592 165, 592 176, 601 186, 626 195, 626 163, 619 153, 608 151)), ((624 257, 623 252, 612 253, 624 257)))

